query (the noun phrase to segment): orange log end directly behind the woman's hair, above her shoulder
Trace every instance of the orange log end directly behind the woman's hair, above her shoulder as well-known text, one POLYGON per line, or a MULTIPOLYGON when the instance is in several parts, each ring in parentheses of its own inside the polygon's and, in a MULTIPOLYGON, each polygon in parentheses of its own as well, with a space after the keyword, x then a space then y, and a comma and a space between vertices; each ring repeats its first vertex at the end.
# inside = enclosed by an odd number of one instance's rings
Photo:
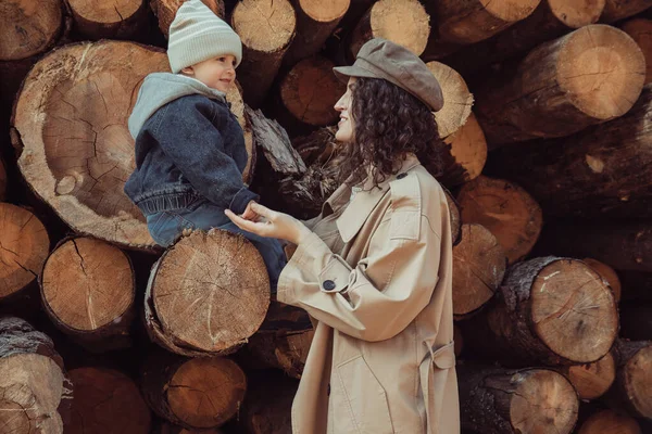
POLYGON ((447 169, 440 181, 449 187, 476 179, 487 162, 487 140, 480 124, 471 113, 466 124, 443 140, 449 144, 455 167, 447 169))

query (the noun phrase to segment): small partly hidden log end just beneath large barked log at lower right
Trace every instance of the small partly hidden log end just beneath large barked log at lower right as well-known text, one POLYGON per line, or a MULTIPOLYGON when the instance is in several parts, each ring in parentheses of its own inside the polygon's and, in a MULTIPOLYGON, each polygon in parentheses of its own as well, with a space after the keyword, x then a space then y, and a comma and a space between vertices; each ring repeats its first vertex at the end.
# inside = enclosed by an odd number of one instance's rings
POLYGON ((604 395, 616 379, 616 361, 611 353, 592 363, 559 368, 577 391, 580 399, 592 400, 604 395))

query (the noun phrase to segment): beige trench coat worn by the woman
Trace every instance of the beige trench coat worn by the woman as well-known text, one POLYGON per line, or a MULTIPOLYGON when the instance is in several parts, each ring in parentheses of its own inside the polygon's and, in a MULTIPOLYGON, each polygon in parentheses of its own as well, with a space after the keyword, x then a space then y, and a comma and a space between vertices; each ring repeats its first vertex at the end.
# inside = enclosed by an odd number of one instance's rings
POLYGON ((306 222, 278 301, 315 323, 294 434, 457 434, 444 193, 414 156, 349 203, 340 187, 306 222))

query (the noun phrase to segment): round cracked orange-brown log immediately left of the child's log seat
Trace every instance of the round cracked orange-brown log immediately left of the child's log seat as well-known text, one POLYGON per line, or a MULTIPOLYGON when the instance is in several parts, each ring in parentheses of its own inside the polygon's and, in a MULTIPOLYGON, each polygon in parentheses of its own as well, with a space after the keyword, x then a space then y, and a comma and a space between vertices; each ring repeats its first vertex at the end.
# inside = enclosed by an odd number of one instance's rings
POLYGON ((73 341, 98 353, 131 345, 136 281, 120 248, 91 238, 63 240, 39 283, 46 312, 73 341))

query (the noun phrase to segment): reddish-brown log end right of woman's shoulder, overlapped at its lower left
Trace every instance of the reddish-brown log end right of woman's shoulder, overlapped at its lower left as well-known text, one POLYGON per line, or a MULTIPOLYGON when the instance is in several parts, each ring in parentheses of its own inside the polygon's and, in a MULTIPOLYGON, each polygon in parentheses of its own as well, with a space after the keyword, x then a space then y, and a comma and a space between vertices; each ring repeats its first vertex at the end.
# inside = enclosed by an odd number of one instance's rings
POLYGON ((541 208, 515 183, 479 176, 457 194, 462 221, 489 229, 505 251, 510 264, 527 255, 541 232, 541 208))

